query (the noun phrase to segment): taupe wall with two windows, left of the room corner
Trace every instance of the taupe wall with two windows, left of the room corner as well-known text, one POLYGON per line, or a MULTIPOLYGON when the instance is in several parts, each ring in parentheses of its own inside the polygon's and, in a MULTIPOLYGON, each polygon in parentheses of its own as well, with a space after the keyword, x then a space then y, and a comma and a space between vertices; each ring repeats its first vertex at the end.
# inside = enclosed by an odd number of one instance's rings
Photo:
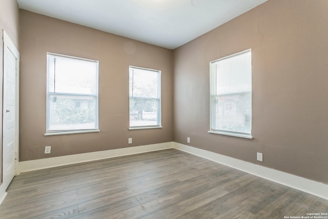
POLYGON ((20 10, 20 161, 172 142, 172 54, 169 49, 20 10), (44 136, 47 52, 99 61, 99 133, 44 136), (128 130, 129 65, 161 70, 162 129, 128 130), (45 145, 52 146, 51 154, 44 154, 45 145))

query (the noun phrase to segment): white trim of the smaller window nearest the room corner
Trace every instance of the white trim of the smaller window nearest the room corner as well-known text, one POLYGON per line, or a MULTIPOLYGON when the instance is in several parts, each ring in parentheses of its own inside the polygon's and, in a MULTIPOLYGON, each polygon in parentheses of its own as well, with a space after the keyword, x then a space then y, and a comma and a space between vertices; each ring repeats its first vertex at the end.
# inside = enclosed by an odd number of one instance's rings
MULTIPOLYGON (((157 96, 158 98, 158 108, 157 110, 157 122, 158 125, 146 125, 146 126, 130 126, 130 82, 129 82, 129 130, 136 130, 136 129, 157 129, 157 128, 163 128, 161 125, 161 113, 162 113, 162 107, 161 107, 161 102, 162 102, 162 96, 161 96, 161 71, 156 70, 156 69, 150 69, 150 68, 142 68, 142 67, 137 67, 137 66, 129 66, 129 77, 130 77, 130 70, 131 69, 140 69, 140 70, 146 70, 146 71, 154 71, 158 73, 158 81, 157 81, 157 96)), ((150 99, 150 98, 149 98, 150 99)))

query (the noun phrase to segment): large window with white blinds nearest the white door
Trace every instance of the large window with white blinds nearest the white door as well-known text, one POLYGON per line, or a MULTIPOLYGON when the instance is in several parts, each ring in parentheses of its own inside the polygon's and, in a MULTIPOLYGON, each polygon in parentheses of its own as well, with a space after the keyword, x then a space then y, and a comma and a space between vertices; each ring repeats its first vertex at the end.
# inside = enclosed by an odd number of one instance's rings
POLYGON ((98 61, 47 53, 47 134, 98 130, 98 61))

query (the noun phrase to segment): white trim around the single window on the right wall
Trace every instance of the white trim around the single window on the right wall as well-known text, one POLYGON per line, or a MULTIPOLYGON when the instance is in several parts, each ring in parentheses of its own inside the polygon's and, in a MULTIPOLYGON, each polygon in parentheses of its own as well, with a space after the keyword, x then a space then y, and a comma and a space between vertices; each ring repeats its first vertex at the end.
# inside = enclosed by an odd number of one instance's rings
MULTIPOLYGON (((234 137, 242 137, 242 138, 248 138, 248 139, 253 139, 252 136, 252 125, 251 125, 251 133, 244 133, 244 132, 238 132, 238 131, 229 131, 229 130, 218 130, 218 129, 214 129, 213 128, 213 90, 214 88, 216 89, 216 80, 214 78, 216 78, 216 72, 214 73, 213 71, 213 63, 217 63, 221 60, 236 56, 236 55, 240 55, 242 53, 246 53, 252 51, 252 49, 247 49, 241 52, 237 52, 234 53, 232 55, 228 55, 219 59, 216 59, 212 62, 210 62, 210 130, 208 131, 208 133, 212 133, 212 134, 221 134, 221 135, 228 135, 228 136, 234 136, 234 137)), ((251 58, 251 62, 252 62, 252 58, 251 58)), ((247 92, 242 92, 242 93, 247 93, 247 92)), ((252 95, 252 91, 251 91, 251 95, 252 95)), ((217 96, 217 95, 215 95, 217 96)), ((251 106, 252 107, 252 106, 251 106)), ((251 123, 252 124, 252 123, 251 123)))

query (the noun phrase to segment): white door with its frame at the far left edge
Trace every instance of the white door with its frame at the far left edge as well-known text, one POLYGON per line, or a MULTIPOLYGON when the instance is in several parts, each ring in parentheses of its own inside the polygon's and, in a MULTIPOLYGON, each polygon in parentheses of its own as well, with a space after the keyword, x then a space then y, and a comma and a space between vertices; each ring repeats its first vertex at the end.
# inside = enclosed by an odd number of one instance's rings
POLYGON ((16 77, 19 53, 4 31, 4 81, 3 81, 3 186, 8 187, 16 172, 16 77))

